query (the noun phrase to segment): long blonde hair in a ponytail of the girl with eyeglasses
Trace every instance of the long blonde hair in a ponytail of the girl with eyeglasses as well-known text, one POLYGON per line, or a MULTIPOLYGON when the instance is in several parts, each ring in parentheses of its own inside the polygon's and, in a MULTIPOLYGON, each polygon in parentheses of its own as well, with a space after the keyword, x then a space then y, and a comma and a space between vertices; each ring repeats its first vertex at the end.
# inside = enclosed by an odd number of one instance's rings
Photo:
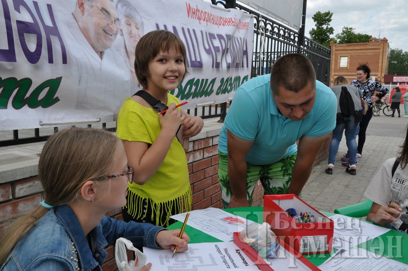
MULTIPOLYGON (((118 144, 122 144, 119 138, 99 129, 71 128, 51 136, 38 161, 38 177, 47 204, 69 204, 87 180, 108 175, 118 144)), ((0 266, 22 236, 48 211, 38 206, 11 224, 0 244, 0 266)))

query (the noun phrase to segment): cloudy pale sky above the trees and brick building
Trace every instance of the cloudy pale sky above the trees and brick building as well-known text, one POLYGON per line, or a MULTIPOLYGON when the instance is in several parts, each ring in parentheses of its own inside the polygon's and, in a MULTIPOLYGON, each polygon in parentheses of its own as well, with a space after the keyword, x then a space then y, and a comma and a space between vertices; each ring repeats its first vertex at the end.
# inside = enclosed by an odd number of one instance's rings
POLYGON ((312 16, 317 12, 333 12, 330 26, 333 36, 346 27, 373 37, 387 38, 391 49, 408 51, 408 0, 307 0, 305 35, 315 27, 312 16), (405 14, 404 14, 405 13, 405 14), (379 33, 381 31, 381 33, 379 33))

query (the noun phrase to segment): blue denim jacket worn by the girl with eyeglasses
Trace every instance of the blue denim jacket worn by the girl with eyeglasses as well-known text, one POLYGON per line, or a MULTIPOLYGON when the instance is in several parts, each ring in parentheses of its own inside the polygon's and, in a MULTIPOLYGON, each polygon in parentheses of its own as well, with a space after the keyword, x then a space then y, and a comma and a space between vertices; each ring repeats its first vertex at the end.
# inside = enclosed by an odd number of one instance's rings
POLYGON ((108 255, 104 248, 115 245, 116 239, 124 237, 135 247, 160 249, 155 239, 157 232, 163 229, 104 216, 89 233, 91 249, 71 207, 58 206, 23 235, 0 270, 102 270, 108 255))

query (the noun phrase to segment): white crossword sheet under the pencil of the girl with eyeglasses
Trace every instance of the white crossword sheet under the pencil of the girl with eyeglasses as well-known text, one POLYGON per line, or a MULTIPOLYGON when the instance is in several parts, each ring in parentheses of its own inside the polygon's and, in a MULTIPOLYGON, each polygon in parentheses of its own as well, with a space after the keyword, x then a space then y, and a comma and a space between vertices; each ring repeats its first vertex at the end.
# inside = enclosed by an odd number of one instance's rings
MULTIPOLYGON (((190 218, 188 218, 190 219, 190 218)), ((170 249, 143 248, 150 271, 256 270, 259 269, 233 242, 188 244, 188 250, 173 256, 170 249)))

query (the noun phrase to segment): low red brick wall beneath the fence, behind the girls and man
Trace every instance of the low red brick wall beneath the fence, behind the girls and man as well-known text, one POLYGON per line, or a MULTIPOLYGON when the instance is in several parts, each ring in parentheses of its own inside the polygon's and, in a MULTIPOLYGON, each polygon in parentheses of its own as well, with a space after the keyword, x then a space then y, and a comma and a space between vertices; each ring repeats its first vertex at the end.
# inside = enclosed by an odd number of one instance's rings
MULTIPOLYGON (((319 151, 315 164, 325 160, 328 156, 328 146, 331 136, 328 137, 319 151)), ((223 208, 221 201, 220 184, 218 183, 218 136, 197 139, 190 142, 186 153, 190 184, 193 192, 193 210, 207 207, 223 208)), ((253 206, 261 206, 264 189, 260 181, 255 185, 253 193, 253 206)), ((42 200, 42 187, 37 176, 0 184, 0 237, 5 229, 18 216, 30 212, 39 206, 42 200)), ((122 220, 120 209, 107 213, 107 215, 122 220)), ((103 265, 104 271, 117 270, 114 259, 113 247, 106 249, 109 255, 103 265)), ((128 258, 130 259, 130 255, 128 258)))

